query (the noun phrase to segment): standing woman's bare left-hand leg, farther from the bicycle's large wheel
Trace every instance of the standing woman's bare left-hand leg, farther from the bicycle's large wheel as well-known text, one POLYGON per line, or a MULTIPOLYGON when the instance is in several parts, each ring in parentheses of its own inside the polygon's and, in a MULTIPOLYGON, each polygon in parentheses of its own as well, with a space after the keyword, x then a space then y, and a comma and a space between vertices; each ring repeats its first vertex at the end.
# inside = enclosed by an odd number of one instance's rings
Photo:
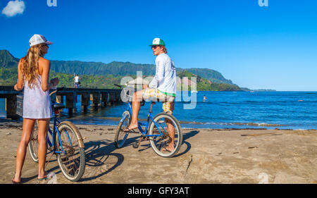
POLYGON ((18 151, 16 152, 15 175, 13 178, 14 182, 20 182, 21 172, 22 172, 24 161, 25 161, 27 144, 29 144, 30 142, 34 124, 35 124, 34 119, 23 118, 22 137, 18 146, 18 151))

